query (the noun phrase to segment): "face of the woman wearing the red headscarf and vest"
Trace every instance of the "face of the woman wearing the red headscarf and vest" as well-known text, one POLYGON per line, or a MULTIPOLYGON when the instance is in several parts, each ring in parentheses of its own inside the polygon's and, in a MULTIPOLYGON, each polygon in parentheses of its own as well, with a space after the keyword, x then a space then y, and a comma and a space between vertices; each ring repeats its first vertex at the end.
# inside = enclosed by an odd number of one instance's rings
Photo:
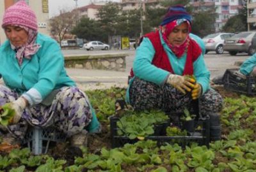
POLYGON ((168 35, 169 42, 172 45, 182 45, 184 41, 186 40, 189 31, 188 31, 188 24, 186 22, 183 22, 180 25, 177 25, 174 27, 172 32, 168 35))

